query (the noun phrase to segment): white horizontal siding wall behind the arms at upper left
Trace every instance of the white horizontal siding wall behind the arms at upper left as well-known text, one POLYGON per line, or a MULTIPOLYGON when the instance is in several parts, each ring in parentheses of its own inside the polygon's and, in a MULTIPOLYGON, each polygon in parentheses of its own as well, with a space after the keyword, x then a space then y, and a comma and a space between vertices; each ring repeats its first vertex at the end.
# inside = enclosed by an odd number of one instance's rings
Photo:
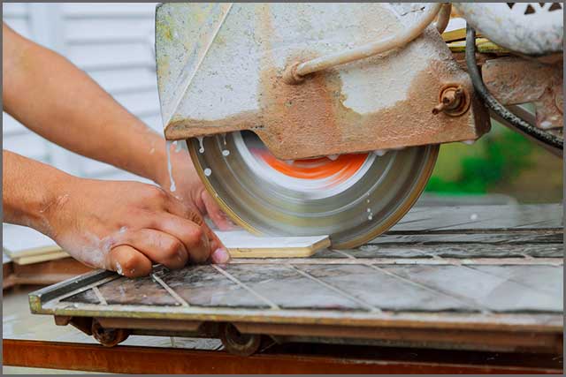
MULTIPOLYGON (((19 34, 67 57, 126 109, 162 132, 155 74, 156 4, 12 3, 3 4, 3 10, 4 22, 19 34)), ((4 149, 75 175, 136 178, 57 147, 6 113, 2 132, 4 149)))

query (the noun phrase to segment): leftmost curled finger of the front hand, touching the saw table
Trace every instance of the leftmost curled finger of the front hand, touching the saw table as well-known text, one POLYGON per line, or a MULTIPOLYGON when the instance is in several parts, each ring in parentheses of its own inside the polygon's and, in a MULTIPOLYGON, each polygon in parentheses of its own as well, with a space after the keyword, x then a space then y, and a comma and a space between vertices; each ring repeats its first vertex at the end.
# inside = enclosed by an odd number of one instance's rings
POLYGON ((151 260, 130 245, 113 247, 106 256, 105 264, 106 269, 127 277, 145 276, 151 272, 151 260))

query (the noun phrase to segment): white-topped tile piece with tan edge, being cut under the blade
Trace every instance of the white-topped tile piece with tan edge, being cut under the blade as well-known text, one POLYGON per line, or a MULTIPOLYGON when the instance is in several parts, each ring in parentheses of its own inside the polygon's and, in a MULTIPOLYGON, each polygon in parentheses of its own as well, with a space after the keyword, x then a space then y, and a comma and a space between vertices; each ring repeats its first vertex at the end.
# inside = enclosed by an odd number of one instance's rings
POLYGON ((302 258, 330 246, 328 236, 258 237, 246 230, 216 234, 232 258, 302 258))

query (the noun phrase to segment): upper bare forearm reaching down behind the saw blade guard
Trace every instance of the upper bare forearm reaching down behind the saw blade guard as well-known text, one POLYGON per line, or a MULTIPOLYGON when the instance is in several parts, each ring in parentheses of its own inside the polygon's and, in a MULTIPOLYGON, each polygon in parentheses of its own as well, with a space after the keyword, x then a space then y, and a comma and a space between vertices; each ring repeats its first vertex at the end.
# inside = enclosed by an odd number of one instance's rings
POLYGON ((164 139, 64 57, 4 27, 4 110, 46 139, 157 180, 164 139))

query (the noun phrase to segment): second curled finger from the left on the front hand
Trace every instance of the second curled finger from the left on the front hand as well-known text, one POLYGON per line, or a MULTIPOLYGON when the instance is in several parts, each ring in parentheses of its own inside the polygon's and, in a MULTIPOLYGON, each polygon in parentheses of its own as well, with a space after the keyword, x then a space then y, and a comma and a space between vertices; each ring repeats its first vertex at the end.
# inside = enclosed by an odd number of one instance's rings
POLYGON ((142 229, 129 235, 125 241, 149 260, 166 268, 182 268, 187 264, 188 252, 179 238, 159 230, 142 229))

